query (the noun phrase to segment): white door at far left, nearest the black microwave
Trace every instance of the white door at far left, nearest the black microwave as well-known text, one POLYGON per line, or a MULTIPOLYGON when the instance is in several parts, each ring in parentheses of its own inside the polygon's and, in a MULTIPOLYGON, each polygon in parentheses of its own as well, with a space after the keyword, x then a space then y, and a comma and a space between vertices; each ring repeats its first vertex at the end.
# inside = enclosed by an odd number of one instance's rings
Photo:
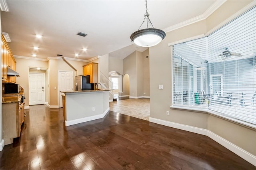
POLYGON ((29 105, 44 104, 44 73, 29 73, 29 105))

